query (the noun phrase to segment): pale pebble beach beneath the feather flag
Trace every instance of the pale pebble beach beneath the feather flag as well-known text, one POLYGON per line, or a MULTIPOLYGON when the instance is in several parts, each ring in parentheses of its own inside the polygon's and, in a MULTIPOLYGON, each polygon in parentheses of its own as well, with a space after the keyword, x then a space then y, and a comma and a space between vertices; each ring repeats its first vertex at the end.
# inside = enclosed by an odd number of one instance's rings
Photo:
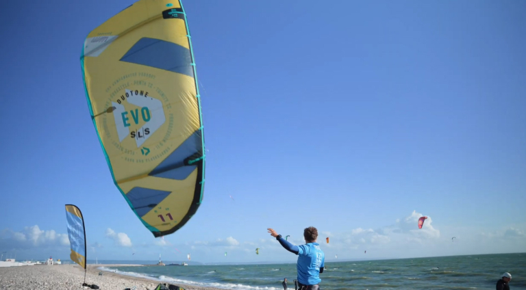
MULTIPOLYGON (((124 290, 153 290, 160 283, 145 278, 136 278, 103 272, 97 269, 101 265, 88 265, 86 283, 95 284, 99 289, 124 290)), ((112 267, 116 265, 103 265, 112 267)), ((127 265, 129 266, 129 265, 127 265)), ((137 266, 141 267, 141 266, 137 266)), ((0 267, 0 290, 4 289, 89 289, 82 287, 84 269, 78 265, 28 265, 18 267, 0 267)), ((215 288, 195 287, 191 285, 177 285, 188 290, 220 290, 215 288)))

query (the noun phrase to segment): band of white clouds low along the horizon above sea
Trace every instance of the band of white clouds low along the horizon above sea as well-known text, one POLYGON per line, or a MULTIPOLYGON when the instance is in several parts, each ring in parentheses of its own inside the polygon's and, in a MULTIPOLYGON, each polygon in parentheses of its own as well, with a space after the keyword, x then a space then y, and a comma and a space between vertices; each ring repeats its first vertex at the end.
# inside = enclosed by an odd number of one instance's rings
MULTIPOLYGON (((376 259, 405 258, 412 256, 441 256, 457 254, 488 254, 492 252, 526 252, 526 230, 524 228, 508 227, 501 230, 483 231, 477 228, 448 228, 434 224, 431 216, 427 216, 423 227, 418 229, 417 221, 421 213, 413 211, 410 215, 398 218, 392 224, 381 228, 353 228, 340 232, 319 231, 318 243, 321 244, 327 259, 336 254, 342 259, 376 259), (450 235, 455 235, 451 241, 450 235), (330 243, 325 242, 330 237, 330 243), (364 251, 367 251, 365 254, 364 251)), ((262 229, 265 233, 265 229, 262 229)), ((166 261, 184 259, 186 252, 192 253, 193 261, 201 262, 251 262, 251 261, 295 261, 294 254, 288 254, 272 237, 239 241, 229 236, 211 241, 177 241, 170 236, 153 241, 132 243, 126 233, 117 233, 107 228, 101 241, 89 241, 92 253, 97 252, 101 259, 144 259, 153 260, 154 256, 163 254, 166 261), (110 242, 111 240, 111 242, 110 242), (132 257, 130 248, 134 253, 132 257), (255 248, 260 248, 260 254, 255 255, 255 248), (224 252, 228 252, 228 259, 224 252)), ((190 238, 190 237, 188 237, 190 238)), ((302 237, 289 237, 294 244, 305 243, 302 237)), ((40 230, 35 226, 27 226, 23 230, 14 231, 5 228, 0 233, 1 251, 16 251, 21 259, 30 259, 39 250, 47 250, 53 256, 68 257, 69 241, 67 233, 57 233, 55 230, 40 230), (27 253, 27 255, 25 255, 27 253), (27 256, 23 258, 24 256, 27 256)), ((44 254, 45 256, 47 255, 44 254)), ((90 259, 88 257, 88 259, 90 259)))

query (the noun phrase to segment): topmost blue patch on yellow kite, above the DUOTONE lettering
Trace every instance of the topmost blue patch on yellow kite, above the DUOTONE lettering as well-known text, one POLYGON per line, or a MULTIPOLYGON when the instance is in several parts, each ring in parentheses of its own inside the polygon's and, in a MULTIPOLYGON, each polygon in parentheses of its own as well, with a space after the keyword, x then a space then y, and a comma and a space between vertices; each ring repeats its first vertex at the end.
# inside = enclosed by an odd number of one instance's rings
POLYGON ((194 77, 194 70, 190 65, 190 49, 160 39, 141 38, 121 58, 121 62, 151 66, 194 77))

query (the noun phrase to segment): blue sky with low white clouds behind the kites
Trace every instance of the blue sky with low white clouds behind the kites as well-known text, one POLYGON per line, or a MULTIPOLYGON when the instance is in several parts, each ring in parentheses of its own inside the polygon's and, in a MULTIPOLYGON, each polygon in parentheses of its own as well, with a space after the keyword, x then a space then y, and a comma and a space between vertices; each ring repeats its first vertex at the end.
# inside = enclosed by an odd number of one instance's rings
POLYGON ((68 259, 65 204, 88 259, 294 262, 266 228, 307 226, 327 259, 526 251, 526 3, 184 1, 210 151, 164 242, 114 187, 80 70, 131 3, 0 4, 1 252, 68 259))

